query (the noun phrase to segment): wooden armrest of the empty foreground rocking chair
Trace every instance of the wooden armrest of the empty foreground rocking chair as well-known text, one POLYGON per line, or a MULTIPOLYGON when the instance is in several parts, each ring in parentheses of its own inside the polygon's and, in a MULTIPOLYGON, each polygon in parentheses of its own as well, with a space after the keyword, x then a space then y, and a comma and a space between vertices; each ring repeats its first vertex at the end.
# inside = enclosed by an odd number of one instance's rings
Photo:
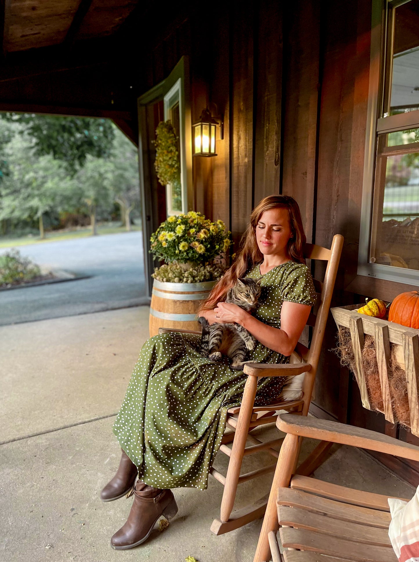
POLYGON ((403 459, 419 461, 419 447, 371 429, 293 414, 279 414, 276 427, 285 433, 361 447, 370 451, 396 455, 403 459))

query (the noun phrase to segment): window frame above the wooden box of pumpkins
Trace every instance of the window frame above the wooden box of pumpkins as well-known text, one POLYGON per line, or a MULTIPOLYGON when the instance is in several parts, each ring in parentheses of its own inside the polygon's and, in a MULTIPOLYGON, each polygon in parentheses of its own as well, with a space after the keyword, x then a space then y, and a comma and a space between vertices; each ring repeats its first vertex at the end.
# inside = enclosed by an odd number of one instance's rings
POLYGON ((419 110, 386 115, 389 112, 393 66, 394 9, 407 2, 409 0, 372 0, 370 79, 357 273, 365 277, 419 285, 418 270, 370 263, 377 134, 419 128, 419 110))

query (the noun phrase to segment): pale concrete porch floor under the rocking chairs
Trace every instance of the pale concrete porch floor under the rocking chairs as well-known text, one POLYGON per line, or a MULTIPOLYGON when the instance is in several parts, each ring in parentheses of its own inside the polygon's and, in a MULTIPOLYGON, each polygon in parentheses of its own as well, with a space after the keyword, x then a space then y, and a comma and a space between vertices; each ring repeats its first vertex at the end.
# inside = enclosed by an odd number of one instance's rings
MULTIPOLYGON (((251 562, 261 520, 210 532, 222 486, 174 491, 179 513, 144 545, 112 550, 131 498, 102 504, 120 450, 111 427, 134 362, 148 337, 148 308, 97 312, 0 327, 0 559, 4 562, 251 562)), ((261 435, 276 435, 266 427, 261 435)), ((306 442, 303 455, 316 442, 306 442)), ((303 458, 303 456, 302 456, 303 458)), ((245 470, 272 457, 245 458, 245 470)), ((225 455, 215 466, 225 472, 225 455)), ((260 464, 259 464, 260 466, 260 464)), ((335 448, 316 471, 329 482, 400 497, 415 490, 362 451, 335 448)), ((239 487, 237 507, 264 495, 270 475, 239 487)))

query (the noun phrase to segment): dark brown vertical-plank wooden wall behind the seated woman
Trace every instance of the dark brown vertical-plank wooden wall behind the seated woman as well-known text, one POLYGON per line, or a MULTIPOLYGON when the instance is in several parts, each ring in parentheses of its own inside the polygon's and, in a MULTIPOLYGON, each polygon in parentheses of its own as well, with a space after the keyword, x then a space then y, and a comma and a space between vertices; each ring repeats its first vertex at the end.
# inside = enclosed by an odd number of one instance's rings
MULTIPOLYGON (((145 57, 144 91, 187 55, 192 120, 208 102, 224 114, 218 156, 194 159, 197 210, 229 224, 237 248, 258 201, 295 197, 309 242, 330 246, 335 233, 345 237, 336 303, 354 298, 344 287, 356 276, 370 9, 369 0, 233 0, 218 11, 211 43, 196 10, 145 57)), ((335 334, 330 320, 313 411, 346 422, 358 398, 349 371, 328 351, 335 334)))

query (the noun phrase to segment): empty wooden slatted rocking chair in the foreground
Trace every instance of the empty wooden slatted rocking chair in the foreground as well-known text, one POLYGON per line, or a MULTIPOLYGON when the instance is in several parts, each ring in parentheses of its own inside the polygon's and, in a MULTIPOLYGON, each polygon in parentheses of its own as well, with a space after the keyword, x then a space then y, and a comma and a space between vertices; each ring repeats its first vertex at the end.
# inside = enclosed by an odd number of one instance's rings
MULTIPOLYGON (((419 461, 419 447, 329 420, 280 414, 281 448, 254 562, 397 562, 388 529, 388 497, 293 475, 301 437, 419 461), (281 556, 276 540, 279 525, 281 556)), ((408 500, 405 500, 408 501, 408 500)))

